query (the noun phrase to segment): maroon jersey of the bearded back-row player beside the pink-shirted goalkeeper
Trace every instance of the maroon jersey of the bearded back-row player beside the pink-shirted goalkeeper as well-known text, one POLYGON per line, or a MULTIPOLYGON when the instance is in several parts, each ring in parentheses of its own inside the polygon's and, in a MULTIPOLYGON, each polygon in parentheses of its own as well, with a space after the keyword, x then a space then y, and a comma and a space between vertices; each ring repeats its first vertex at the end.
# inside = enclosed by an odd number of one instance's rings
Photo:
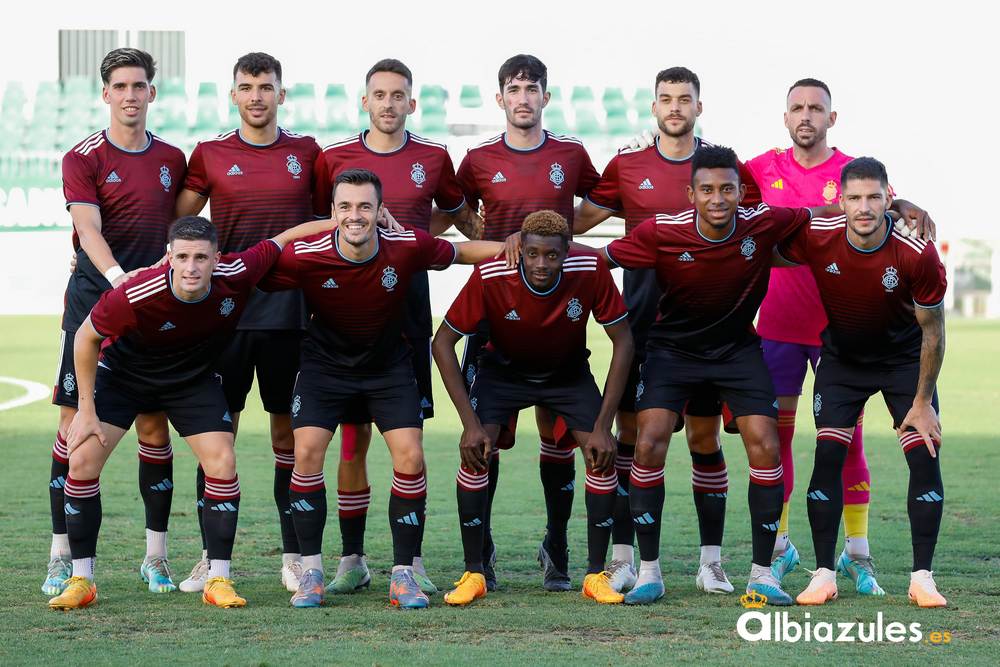
MULTIPOLYGON (((657 137, 657 142, 659 138, 657 137)), ((711 146, 695 139, 695 150, 711 146)), ((625 214, 625 232, 657 213, 675 215, 691 208, 687 187, 691 185, 691 158, 674 160, 660 152, 659 143, 647 148, 623 148, 604 168, 600 182, 587 195, 594 206, 625 214)), ((753 174, 740 163, 740 182, 747 193, 740 202, 751 208, 761 202, 753 174)))

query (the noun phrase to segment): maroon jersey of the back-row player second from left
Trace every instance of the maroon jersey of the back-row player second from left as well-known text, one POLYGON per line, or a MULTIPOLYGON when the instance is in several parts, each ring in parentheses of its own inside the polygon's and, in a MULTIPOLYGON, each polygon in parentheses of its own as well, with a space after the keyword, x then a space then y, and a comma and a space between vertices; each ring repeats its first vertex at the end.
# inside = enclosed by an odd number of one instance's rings
MULTIPOLYGON (((245 141, 239 130, 199 142, 184 187, 209 198, 222 252, 240 252, 311 220, 319 145, 278 128, 270 144, 245 141)), ((240 320, 244 330, 288 330, 305 325, 296 292, 255 294, 240 320)))

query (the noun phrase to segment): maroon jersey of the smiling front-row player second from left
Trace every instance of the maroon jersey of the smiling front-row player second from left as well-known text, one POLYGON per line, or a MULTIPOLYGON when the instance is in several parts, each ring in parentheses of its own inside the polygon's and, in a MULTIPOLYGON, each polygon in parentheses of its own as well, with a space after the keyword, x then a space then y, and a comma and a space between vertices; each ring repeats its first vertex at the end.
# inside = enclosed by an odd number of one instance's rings
POLYGON ((381 371, 406 359, 402 334, 407 288, 415 273, 447 268, 455 246, 419 229, 378 230, 375 253, 355 262, 340 254, 338 231, 288 245, 261 289, 299 288, 313 313, 302 363, 333 372, 381 371))

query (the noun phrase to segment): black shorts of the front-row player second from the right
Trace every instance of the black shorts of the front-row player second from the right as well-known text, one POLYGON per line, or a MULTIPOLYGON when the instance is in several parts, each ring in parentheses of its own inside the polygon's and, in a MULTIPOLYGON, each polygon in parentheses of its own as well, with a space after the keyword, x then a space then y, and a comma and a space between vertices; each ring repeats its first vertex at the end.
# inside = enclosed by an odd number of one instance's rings
MULTIPOLYGON (((705 415, 709 396, 725 401, 734 417, 778 417, 778 399, 760 343, 754 341, 721 359, 696 359, 670 350, 651 349, 642 364, 636 407, 665 408, 678 414, 705 415), (692 399, 700 397, 698 405, 692 399), (699 414, 702 413, 702 414, 699 414)), ((721 412, 721 405, 714 414, 721 412)))

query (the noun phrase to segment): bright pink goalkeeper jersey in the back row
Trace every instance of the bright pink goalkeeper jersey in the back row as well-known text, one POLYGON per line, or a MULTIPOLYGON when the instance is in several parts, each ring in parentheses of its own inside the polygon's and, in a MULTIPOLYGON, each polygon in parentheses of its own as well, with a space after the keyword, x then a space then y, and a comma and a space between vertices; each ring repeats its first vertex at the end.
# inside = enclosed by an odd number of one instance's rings
MULTIPOLYGON (((746 163, 769 206, 827 206, 840 196, 840 170, 853 158, 836 148, 823 164, 806 169, 792 149, 775 148, 746 163)), ((800 345, 819 345, 826 314, 812 273, 805 267, 771 271, 767 296, 760 306, 761 338, 800 345)))

